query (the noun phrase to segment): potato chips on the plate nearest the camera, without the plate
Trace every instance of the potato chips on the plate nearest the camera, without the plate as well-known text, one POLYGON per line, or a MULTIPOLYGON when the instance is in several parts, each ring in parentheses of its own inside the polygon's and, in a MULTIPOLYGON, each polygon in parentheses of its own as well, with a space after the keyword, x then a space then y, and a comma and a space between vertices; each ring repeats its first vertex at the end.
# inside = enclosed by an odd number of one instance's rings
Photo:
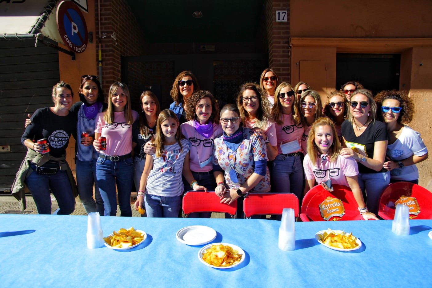
POLYGON ((227 267, 240 262, 242 256, 242 254, 238 254, 238 251, 232 249, 230 246, 217 244, 206 249, 202 254, 202 259, 215 267, 227 267))

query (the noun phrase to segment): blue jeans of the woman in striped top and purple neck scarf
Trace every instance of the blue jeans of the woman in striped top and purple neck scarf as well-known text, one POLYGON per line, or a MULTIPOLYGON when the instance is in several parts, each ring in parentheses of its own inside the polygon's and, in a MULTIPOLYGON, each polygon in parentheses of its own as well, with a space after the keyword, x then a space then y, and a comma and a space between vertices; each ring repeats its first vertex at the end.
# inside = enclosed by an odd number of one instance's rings
POLYGON ((99 212, 104 215, 104 201, 99 192, 98 182, 96 180, 96 161, 76 160, 76 184, 78 186, 79 200, 83 203, 87 214, 90 212, 99 212), (93 184, 95 185, 95 200, 93 199, 93 184))

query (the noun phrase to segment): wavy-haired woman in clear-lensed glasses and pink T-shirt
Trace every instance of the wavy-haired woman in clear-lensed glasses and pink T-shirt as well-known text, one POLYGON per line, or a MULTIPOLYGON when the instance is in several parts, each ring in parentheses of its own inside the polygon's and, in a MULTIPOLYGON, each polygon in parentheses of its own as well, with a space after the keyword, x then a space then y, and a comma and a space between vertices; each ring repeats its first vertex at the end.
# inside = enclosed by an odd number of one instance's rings
POLYGON ((273 161, 278 154, 276 128, 270 116, 270 103, 263 94, 263 90, 257 84, 245 83, 238 92, 237 107, 241 122, 263 137, 268 160, 273 161))

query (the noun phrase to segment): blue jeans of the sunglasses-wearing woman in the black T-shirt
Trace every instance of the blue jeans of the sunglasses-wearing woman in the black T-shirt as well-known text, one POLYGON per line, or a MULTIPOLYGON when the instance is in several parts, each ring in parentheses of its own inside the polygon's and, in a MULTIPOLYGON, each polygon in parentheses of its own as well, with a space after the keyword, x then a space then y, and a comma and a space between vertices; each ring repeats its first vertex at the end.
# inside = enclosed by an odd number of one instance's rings
POLYGON ((366 206, 368 210, 378 215, 378 202, 382 191, 390 183, 390 171, 379 173, 359 173, 360 189, 366 192, 366 206))

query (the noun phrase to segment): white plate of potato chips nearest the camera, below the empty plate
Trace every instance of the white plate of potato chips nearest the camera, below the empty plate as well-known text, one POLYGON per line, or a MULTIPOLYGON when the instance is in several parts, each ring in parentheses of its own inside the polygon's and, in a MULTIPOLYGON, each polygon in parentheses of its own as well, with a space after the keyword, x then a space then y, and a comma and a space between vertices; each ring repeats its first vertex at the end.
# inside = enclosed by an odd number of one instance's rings
POLYGON ((240 265, 245 260, 245 251, 233 244, 212 243, 198 251, 198 259, 206 266, 228 269, 240 265))

